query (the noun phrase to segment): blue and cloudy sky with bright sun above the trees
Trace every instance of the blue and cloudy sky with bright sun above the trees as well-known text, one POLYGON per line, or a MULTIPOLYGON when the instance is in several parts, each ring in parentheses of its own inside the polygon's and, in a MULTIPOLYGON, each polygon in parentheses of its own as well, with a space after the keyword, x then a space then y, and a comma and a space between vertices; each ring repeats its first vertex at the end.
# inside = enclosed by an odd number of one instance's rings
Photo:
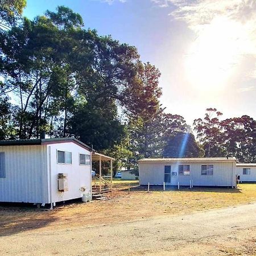
POLYGON ((137 47, 162 74, 160 102, 189 125, 217 108, 256 119, 255 0, 27 0, 33 19, 64 5, 85 28, 137 47))

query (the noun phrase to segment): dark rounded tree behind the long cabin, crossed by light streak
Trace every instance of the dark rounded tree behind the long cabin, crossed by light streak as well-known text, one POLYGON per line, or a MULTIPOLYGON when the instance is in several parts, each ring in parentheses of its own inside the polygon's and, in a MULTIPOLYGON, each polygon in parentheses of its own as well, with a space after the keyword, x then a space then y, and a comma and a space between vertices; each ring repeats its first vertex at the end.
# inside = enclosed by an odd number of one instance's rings
POLYGON ((192 133, 182 132, 170 137, 163 150, 163 156, 166 158, 196 158, 203 157, 204 154, 195 136, 192 133))

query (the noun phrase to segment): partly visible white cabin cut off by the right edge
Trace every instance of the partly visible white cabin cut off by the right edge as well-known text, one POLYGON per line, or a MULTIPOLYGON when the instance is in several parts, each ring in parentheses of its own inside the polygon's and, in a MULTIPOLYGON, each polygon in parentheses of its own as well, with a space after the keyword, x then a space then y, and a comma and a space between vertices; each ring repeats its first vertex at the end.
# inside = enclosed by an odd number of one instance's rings
POLYGON ((237 163, 237 175, 240 181, 256 181, 256 163, 237 163))

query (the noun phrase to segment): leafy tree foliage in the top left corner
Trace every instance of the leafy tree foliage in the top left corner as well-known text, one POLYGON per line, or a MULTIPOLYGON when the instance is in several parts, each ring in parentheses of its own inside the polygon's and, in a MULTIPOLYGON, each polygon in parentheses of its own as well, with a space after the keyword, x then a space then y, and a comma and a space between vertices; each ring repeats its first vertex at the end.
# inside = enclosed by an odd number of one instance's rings
POLYGON ((9 29, 26 7, 26 0, 0 0, 0 29, 9 29))

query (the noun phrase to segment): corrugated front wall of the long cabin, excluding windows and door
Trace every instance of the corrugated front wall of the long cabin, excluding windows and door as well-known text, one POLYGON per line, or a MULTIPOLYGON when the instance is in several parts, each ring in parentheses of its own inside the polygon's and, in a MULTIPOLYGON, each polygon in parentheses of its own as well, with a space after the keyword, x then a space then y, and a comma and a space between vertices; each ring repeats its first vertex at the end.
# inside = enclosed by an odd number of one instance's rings
POLYGON ((164 166, 171 166, 171 172, 176 171, 177 176, 171 176, 171 184, 189 185, 193 180, 193 185, 198 186, 234 186, 235 185, 235 162, 208 162, 208 163, 189 163, 189 162, 151 162, 139 163, 139 182, 141 185, 163 185, 164 166), (179 164, 189 164, 190 175, 179 175, 179 164), (201 175, 202 164, 213 164, 213 175, 201 175), (233 168, 233 176, 232 176, 233 168))

